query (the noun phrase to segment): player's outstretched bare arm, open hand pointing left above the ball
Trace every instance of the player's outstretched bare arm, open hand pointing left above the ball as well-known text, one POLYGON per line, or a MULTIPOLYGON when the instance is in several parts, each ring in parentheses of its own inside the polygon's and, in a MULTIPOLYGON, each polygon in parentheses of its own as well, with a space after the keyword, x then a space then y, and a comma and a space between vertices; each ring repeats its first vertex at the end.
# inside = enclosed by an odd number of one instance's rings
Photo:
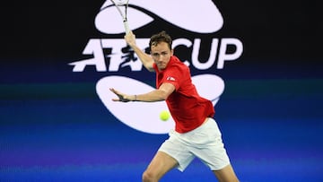
POLYGON ((153 101, 162 101, 166 100, 170 94, 175 91, 176 88, 173 84, 170 82, 164 82, 162 85, 154 90, 150 91, 144 94, 138 94, 138 95, 127 95, 125 93, 122 93, 120 91, 117 91, 113 88, 110 89, 110 91, 114 92, 118 99, 112 99, 113 101, 144 101, 144 102, 153 102, 153 101))

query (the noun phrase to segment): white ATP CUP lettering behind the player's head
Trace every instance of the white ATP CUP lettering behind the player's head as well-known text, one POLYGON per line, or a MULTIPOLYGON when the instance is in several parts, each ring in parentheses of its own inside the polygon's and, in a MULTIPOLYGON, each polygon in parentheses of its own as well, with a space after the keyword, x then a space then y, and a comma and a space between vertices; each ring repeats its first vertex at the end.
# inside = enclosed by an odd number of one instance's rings
MULTIPOLYGON (((139 48, 147 50, 149 39, 136 39, 139 48)), ((194 66, 198 70, 210 69, 216 64, 217 69, 223 69, 226 61, 238 59, 243 52, 243 45, 240 39, 222 38, 212 39, 207 60, 199 60, 201 48, 201 39, 174 39, 173 48, 177 47, 191 48, 190 60, 182 60, 188 66, 194 66), (233 47, 234 51, 228 51, 233 47)), ((147 51, 146 51, 147 52, 147 51)), ((118 72, 125 66, 130 66, 131 71, 141 71, 142 63, 135 56, 135 52, 129 48, 124 39, 90 39, 83 49, 83 55, 92 56, 70 63, 73 65, 73 72, 83 72, 86 66, 95 66, 97 72, 118 72), (109 65, 107 65, 109 63, 109 65)), ((176 53, 175 53, 176 55, 176 53)))

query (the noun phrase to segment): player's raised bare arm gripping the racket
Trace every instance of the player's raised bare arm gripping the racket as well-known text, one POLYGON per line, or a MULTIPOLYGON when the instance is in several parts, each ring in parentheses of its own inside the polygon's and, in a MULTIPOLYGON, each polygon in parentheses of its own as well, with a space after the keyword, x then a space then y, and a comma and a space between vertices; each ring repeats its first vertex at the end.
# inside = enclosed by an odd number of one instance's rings
POLYGON ((144 67, 150 71, 153 72, 153 57, 146 54, 141 48, 138 48, 135 43, 135 34, 130 31, 125 35, 125 39, 127 44, 133 48, 135 51, 135 54, 139 57, 140 61, 143 63, 144 67))

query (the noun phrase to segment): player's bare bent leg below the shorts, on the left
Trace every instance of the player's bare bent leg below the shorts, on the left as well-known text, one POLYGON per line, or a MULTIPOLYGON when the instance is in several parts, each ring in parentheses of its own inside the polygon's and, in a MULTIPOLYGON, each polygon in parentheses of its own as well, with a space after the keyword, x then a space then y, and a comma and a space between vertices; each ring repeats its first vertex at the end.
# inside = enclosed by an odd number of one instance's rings
POLYGON ((170 169, 177 167, 178 161, 174 158, 170 157, 165 152, 157 152, 156 155, 153 157, 153 160, 145 169, 143 174, 143 181, 144 182, 156 182, 164 174, 166 174, 170 169))

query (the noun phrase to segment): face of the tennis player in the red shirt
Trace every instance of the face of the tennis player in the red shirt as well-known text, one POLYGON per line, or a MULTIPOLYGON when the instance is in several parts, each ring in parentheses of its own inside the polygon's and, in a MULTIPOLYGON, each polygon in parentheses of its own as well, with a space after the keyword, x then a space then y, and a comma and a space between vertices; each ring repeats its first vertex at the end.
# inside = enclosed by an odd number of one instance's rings
POLYGON ((170 56, 173 55, 173 50, 169 48, 166 42, 160 42, 156 46, 152 46, 151 55, 158 69, 163 70, 170 62, 170 56))

